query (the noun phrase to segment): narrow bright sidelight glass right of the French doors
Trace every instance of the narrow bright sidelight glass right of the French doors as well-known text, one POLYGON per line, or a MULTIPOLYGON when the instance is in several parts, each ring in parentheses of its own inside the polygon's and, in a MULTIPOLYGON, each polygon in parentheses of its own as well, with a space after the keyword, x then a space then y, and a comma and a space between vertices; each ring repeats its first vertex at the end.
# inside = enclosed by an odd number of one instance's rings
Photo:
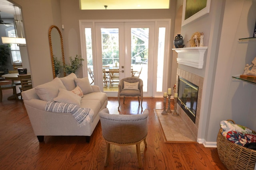
POLYGON ((165 40, 165 27, 159 28, 158 34, 158 55, 157 55, 157 79, 156 79, 156 91, 162 92, 163 88, 163 73, 164 73, 164 41, 165 40))

